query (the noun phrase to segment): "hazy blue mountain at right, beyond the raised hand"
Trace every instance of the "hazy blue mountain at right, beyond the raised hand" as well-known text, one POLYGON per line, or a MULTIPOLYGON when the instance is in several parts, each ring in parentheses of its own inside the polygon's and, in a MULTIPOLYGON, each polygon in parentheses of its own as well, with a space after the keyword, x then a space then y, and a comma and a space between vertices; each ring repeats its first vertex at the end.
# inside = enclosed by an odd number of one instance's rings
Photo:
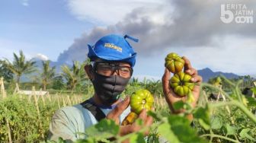
POLYGON ((198 75, 203 77, 203 81, 207 82, 210 78, 219 76, 219 75, 224 75, 226 78, 238 78, 240 75, 235 75, 233 73, 227 73, 227 72, 222 72, 222 71, 212 71, 210 68, 203 68, 198 70, 198 75))

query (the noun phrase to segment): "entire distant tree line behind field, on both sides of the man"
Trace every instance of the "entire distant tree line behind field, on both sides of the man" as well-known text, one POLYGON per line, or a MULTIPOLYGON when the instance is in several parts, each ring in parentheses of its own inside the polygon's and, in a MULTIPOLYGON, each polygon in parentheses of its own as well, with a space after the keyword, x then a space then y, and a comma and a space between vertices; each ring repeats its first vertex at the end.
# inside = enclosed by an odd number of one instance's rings
MULTIPOLYGON (((93 91, 90 86, 90 80, 85 74, 84 66, 90 64, 89 59, 80 63, 78 61, 73 61, 72 66, 62 65, 60 73, 56 73, 56 67, 50 66, 50 61, 42 61, 42 69, 38 69, 36 62, 32 59, 26 60, 24 53, 19 52, 19 55, 14 53, 13 61, 8 59, 0 60, 0 77, 5 78, 5 81, 14 87, 15 83, 20 84, 23 87, 31 87, 32 85, 37 85, 43 90, 70 90, 70 91, 93 91), (21 82, 21 76, 28 75, 30 81, 26 83, 21 82)), ((242 89, 245 87, 253 87, 254 78, 250 75, 240 76, 238 78, 232 78, 230 81, 237 82, 242 80, 242 89)), ((221 85, 222 89, 229 89, 229 83, 222 80, 219 76, 210 78, 208 83, 214 85, 221 85)), ((138 81, 136 78, 130 80, 130 84, 127 86, 124 94, 131 94, 131 92, 136 91, 138 88, 146 88, 152 92, 152 94, 162 95, 162 82, 152 81, 149 79, 144 79, 143 81, 138 81)))

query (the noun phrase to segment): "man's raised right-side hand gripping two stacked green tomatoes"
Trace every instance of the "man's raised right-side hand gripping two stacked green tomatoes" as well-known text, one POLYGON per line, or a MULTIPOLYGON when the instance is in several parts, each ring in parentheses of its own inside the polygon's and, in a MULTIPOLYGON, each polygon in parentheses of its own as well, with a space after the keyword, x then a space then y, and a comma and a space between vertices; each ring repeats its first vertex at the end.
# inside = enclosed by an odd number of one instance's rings
MULTIPOLYGON (((200 75, 197 75, 197 70, 195 68, 192 68, 190 65, 190 61, 186 57, 182 57, 184 59, 184 72, 188 75, 191 75, 192 78, 190 79, 191 82, 197 83, 194 86, 194 89, 192 91, 192 94, 194 95, 194 102, 192 103, 192 106, 197 105, 197 100, 199 98, 200 94, 200 83, 202 82, 202 77, 200 75)), ((165 94, 165 100, 167 101, 170 110, 173 113, 180 113, 182 110, 174 111, 172 104, 179 101, 179 100, 187 100, 187 96, 181 97, 174 93, 174 91, 170 87, 170 78, 171 73, 168 71, 167 68, 165 68, 165 74, 162 76, 162 85, 163 85, 163 91, 165 94)))

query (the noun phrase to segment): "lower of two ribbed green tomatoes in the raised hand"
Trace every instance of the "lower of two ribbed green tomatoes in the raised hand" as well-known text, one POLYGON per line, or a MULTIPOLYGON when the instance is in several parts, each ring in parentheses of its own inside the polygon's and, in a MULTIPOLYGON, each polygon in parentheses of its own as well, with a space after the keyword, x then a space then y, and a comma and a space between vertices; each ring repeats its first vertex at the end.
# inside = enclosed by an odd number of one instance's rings
POLYGON ((171 88, 174 90, 175 94, 184 97, 193 90, 194 83, 190 82, 192 77, 185 74, 184 72, 178 72, 170 79, 171 88))

